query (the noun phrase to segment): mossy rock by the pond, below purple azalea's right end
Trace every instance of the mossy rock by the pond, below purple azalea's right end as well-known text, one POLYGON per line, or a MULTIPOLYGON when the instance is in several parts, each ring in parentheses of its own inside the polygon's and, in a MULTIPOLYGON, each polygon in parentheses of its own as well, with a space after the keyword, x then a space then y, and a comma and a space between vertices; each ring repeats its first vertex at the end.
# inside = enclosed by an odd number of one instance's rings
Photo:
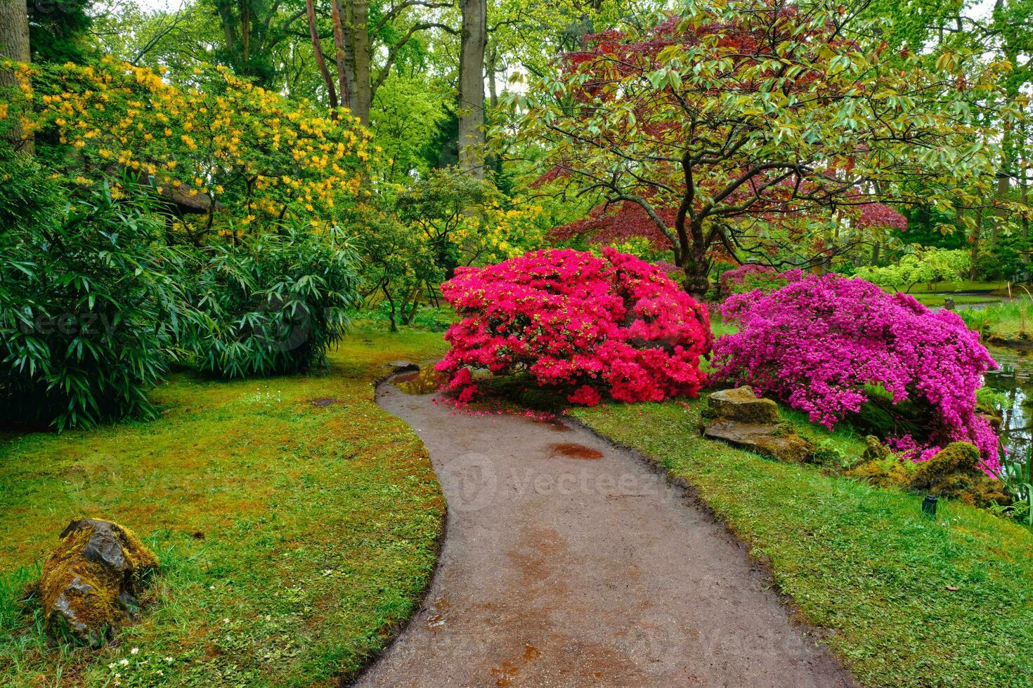
POLYGON ((1004 484, 979 468, 979 450, 964 441, 951 443, 929 461, 917 464, 909 487, 974 506, 1011 503, 1004 484))

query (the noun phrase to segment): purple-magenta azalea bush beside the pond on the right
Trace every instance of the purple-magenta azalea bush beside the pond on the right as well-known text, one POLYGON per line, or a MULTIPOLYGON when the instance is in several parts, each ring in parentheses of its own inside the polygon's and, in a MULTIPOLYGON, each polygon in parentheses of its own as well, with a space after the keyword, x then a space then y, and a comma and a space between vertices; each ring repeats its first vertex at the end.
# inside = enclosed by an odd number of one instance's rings
POLYGON ((894 449, 926 460, 970 441, 996 472, 997 437, 975 413, 975 391, 997 364, 961 318, 863 280, 786 276, 777 291, 725 301, 739 331, 714 345, 716 380, 751 385, 829 428, 883 401, 899 421, 887 432, 894 449))

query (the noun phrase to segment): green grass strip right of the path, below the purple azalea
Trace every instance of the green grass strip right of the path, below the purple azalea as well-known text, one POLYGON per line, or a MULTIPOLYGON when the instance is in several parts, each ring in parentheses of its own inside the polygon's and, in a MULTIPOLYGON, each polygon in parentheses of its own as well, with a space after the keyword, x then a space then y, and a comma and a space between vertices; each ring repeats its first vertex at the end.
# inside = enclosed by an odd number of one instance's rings
POLYGON ((571 417, 688 483, 869 686, 1033 683, 1033 533, 941 500, 779 463, 697 433, 699 402, 571 417))

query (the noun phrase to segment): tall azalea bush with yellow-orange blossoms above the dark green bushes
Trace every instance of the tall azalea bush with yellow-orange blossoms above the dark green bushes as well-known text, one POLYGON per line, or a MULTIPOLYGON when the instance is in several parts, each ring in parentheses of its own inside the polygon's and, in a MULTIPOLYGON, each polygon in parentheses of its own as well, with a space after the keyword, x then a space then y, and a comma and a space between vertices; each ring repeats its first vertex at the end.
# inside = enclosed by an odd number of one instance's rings
POLYGON ((146 181, 169 217, 196 216, 184 224, 195 242, 270 222, 321 228, 361 193, 370 136, 346 109, 327 117, 222 67, 195 70, 189 85, 111 59, 20 65, 17 75, 6 129, 34 135, 74 184, 146 181))

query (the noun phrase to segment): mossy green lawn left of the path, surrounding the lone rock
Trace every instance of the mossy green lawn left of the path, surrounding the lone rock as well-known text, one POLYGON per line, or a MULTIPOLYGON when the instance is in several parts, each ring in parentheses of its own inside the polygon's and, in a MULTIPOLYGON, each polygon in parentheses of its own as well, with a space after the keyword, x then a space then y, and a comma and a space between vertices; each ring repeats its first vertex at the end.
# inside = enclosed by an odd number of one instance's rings
POLYGON ((153 393, 157 421, 0 436, 0 685, 352 675, 414 610, 444 516, 422 444, 371 383, 386 361, 443 347, 439 334, 356 332, 330 373, 180 373, 153 393), (132 528, 162 560, 147 611, 97 653, 48 647, 18 601, 76 516, 132 528))

